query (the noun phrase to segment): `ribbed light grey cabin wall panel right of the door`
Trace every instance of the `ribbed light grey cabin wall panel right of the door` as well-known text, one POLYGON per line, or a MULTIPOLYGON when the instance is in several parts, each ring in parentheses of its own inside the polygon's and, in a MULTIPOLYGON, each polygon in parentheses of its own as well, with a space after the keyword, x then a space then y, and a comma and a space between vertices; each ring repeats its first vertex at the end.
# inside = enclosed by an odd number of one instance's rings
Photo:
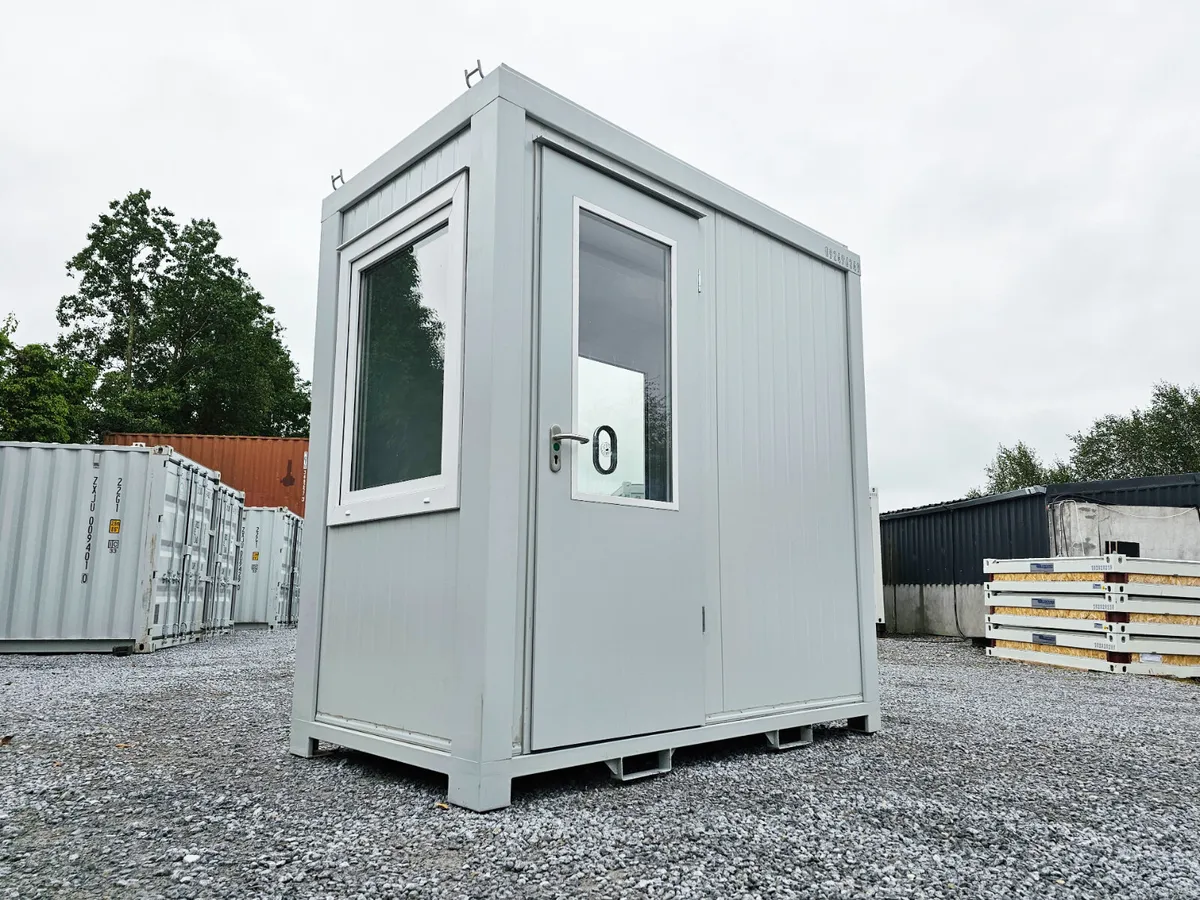
POLYGON ((718 216, 715 302, 725 708, 859 696, 846 277, 718 216))

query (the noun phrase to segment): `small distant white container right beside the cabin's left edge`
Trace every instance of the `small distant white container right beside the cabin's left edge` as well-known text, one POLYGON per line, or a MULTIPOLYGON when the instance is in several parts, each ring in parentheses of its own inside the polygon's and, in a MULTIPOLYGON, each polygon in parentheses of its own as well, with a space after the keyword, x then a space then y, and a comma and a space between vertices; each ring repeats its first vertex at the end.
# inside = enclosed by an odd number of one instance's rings
POLYGON ((239 628, 295 624, 301 534, 302 520, 287 506, 246 510, 239 628))

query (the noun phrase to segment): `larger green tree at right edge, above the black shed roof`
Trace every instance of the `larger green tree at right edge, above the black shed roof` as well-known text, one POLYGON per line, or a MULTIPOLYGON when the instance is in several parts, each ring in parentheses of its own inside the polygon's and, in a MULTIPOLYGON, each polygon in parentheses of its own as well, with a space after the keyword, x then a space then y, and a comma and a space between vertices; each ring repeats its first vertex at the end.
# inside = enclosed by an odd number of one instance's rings
POLYGON ((1148 408, 1106 415, 1070 439, 1084 480, 1200 472, 1200 389, 1156 384, 1148 408))

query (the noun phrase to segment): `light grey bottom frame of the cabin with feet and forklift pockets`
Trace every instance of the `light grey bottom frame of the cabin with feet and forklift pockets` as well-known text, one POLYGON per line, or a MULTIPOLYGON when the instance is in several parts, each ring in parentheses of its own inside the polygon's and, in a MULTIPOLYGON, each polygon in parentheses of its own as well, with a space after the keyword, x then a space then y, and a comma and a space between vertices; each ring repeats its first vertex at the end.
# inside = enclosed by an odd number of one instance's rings
POLYGON ((632 780, 670 772, 672 754, 680 746, 714 740, 764 734, 782 738, 782 746, 803 746, 812 725, 846 720, 848 730, 872 733, 880 728, 878 702, 857 702, 802 709, 775 715, 756 715, 733 721, 702 725, 696 728, 646 734, 636 738, 606 740, 599 744, 523 754, 506 760, 476 762, 452 755, 452 751, 419 746, 383 733, 349 728, 323 721, 296 720, 292 725, 290 752, 312 757, 318 742, 337 744, 409 766, 440 772, 449 776, 448 799, 456 806, 486 812, 511 803, 512 779, 540 772, 566 769, 589 763, 606 763, 617 780, 632 780), (648 766, 647 760, 653 762, 648 766), (614 768, 616 766, 616 768, 614 768))

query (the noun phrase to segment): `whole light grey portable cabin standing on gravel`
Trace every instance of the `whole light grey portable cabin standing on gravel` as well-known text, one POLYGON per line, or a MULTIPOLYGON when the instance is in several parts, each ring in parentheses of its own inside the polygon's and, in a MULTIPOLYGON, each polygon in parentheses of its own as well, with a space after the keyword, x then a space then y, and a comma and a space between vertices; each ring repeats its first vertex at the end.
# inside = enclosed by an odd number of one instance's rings
POLYGON ((323 215, 294 754, 878 727, 854 253, 505 67, 323 215))

